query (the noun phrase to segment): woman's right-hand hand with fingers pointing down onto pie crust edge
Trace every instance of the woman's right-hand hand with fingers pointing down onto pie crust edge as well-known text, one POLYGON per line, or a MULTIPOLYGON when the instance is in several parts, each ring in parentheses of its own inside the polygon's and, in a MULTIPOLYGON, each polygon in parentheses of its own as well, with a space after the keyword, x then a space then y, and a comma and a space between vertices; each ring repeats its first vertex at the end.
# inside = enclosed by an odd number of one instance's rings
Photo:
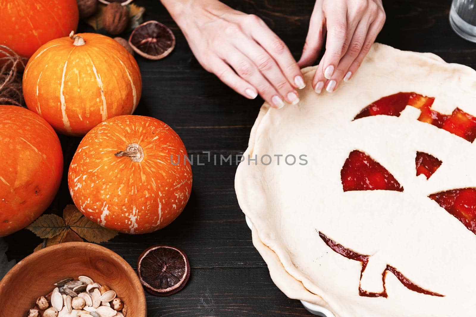
POLYGON ((384 23, 382 0, 317 0, 298 62, 301 67, 312 65, 327 33, 326 51, 312 81, 314 90, 332 92, 342 80, 351 79, 384 23))

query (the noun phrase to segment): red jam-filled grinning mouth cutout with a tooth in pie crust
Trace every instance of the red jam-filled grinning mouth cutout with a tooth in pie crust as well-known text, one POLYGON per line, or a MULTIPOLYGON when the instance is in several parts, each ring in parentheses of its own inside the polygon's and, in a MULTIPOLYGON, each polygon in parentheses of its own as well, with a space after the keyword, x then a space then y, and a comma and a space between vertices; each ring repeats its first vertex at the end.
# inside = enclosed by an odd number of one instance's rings
MULTIPOLYGON (((324 243, 327 244, 327 246, 329 248, 331 248, 332 250, 334 250, 335 252, 337 252, 341 256, 346 257, 346 258, 351 259, 351 260, 362 262, 362 270, 360 271, 360 279, 362 279, 362 274, 364 273, 365 268, 367 267, 367 263, 368 263, 368 260, 369 260, 370 256, 359 254, 355 251, 352 251, 351 249, 345 248, 344 246, 342 246, 341 244, 338 244, 334 240, 327 238, 327 236, 325 234, 323 234, 322 232, 319 232, 319 237, 324 241, 324 243)), ((368 292, 368 291, 362 289, 362 287, 360 286, 360 282, 359 282, 359 289, 358 289, 359 295, 360 296, 365 296, 365 297, 385 297, 385 298, 387 298, 387 296, 388 296, 387 295, 387 289, 385 288, 385 277, 387 275, 387 272, 391 272, 393 275, 395 275, 398 278, 400 283, 402 283, 405 287, 407 287, 408 289, 410 289, 414 292, 418 292, 418 293, 426 294, 426 295, 431 295, 431 296, 444 297, 444 295, 441 295, 441 294, 438 294, 438 293, 435 293, 435 292, 431 292, 429 290, 426 290, 424 288, 419 287, 418 285, 413 283, 410 279, 405 277, 405 275, 400 273, 400 271, 398 271, 395 267, 392 267, 388 264, 387 264, 386 269, 382 272, 382 282, 383 282, 383 288, 384 288, 383 292, 381 292, 381 293, 368 292)))

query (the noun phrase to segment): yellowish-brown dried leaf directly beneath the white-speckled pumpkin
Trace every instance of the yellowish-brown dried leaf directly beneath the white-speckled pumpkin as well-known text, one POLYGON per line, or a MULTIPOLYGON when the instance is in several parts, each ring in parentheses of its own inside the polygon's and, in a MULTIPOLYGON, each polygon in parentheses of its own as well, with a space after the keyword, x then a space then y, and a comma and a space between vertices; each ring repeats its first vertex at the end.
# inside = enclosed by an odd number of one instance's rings
POLYGON ((65 220, 68 219, 69 228, 89 242, 106 242, 118 235, 116 231, 101 227, 97 223, 84 217, 74 205, 66 206, 63 217, 65 220))

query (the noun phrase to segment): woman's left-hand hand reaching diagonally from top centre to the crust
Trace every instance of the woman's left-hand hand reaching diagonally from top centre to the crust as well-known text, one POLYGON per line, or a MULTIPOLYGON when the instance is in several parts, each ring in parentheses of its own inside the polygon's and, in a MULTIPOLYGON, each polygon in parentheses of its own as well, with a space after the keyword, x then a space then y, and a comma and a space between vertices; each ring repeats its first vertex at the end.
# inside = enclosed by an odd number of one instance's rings
POLYGON ((296 104, 305 87, 287 46, 257 16, 218 0, 162 0, 200 64, 239 94, 275 108, 296 104))

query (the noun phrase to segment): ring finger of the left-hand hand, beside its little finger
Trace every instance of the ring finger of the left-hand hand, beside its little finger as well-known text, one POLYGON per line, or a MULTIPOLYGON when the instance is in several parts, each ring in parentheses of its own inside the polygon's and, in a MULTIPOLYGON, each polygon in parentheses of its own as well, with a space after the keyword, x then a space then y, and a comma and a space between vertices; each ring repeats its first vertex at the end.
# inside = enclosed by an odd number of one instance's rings
MULTIPOLYGON (((271 107, 282 108, 284 101, 279 92, 261 74, 256 65, 243 53, 233 48, 233 52, 224 51, 226 62, 235 69, 238 76, 249 82, 258 90, 259 95, 268 101, 271 107)), ((223 58, 223 57, 222 57, 223 58)))

